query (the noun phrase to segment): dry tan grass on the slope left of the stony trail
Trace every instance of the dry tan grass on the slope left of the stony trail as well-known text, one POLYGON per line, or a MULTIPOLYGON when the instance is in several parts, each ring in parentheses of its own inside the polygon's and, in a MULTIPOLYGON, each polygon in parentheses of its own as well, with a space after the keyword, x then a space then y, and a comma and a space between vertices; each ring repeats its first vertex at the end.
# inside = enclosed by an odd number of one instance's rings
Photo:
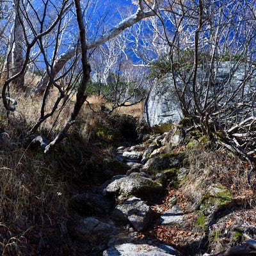
MULTIPOLYGON (((26 76, 28 92, 38 79, 26 76)), ((42 97, 31 97, 29 93, 15 90, 10 96, 17 100, 17 111, 6 113, 3 107, 0 109, 0 129, 7 142, 0 145, 0 253, 38 255, 41 249, 47 248, 45 228, 64 223, 69 218, 70 189, 74 189, 73 180, 79 179, 82 168, 79 166, 80 152, 73 143, 78 141, 79 150, 86 152, 99 124, 106 122, 106 114, 97 112, 102 100, 89 97, 90 106, 96 112, 84 104, 76 124, 70 129, 70 139, 45 155, 34 145, 12 144, 38 122, 42 97)), ((46 111, 51 111, 57 96, 58 93, 52 90, 46 111)), ((58 109, 41 125, 38 134, 44 134, 49 140, 54 138, 70 115, 74 100, 72 95, 63 109, 58 109)), ((141 116, 142 104, 118 109, 118 113, 141 116)))

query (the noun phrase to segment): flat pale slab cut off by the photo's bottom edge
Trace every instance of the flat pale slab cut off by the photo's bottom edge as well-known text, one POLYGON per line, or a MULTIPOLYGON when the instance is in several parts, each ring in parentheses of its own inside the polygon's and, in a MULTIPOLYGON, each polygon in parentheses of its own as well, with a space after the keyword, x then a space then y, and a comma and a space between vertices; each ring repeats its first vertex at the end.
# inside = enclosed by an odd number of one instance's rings
POLYGON ((179 253, 169 245, 118 244, 103 252, 103 256, 177 256, 179 253))

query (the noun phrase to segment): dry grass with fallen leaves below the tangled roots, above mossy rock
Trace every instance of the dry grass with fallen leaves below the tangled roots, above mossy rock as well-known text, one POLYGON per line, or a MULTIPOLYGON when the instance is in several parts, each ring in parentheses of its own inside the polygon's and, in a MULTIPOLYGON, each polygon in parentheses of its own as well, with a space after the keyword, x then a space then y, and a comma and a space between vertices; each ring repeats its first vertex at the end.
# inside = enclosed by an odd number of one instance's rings
POLYGON ((242 159, 226 148, 217 148, 216 145, 209 147, 209 144, 189 149, 186 156, 189 179, 182 183, 182 190, 195 205, 200 203, 200 198, 211 184, 222 184, 230 189, 232 198, 239 200, 243 207, 256 206, 253 189, 247 182, 250 167, 242 159))

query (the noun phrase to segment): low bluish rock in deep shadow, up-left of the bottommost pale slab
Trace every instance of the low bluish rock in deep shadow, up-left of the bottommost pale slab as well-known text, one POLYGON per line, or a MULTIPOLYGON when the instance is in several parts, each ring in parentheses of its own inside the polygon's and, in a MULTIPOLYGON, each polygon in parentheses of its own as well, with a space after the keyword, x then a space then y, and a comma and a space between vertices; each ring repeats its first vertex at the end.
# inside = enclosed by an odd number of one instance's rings
POLYGON ((70 237, 86 243, 108 240, 116 234, 114 225, 104 223, 93 217, 67 221, 67 229, 70 237))

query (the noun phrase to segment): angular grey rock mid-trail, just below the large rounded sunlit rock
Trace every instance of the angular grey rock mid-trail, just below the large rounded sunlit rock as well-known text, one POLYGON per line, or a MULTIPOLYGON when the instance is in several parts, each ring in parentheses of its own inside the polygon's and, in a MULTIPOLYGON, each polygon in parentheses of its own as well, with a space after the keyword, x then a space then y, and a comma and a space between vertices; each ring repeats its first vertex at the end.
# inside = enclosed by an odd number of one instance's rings
POLYGON ((135 196, 129 198, 122 204, 116 205, 113 211, 114 218, 122 221, 130 221, 132 226, 138 231, 147 228, 154 214, 154 211, 147 204, 135 196))

